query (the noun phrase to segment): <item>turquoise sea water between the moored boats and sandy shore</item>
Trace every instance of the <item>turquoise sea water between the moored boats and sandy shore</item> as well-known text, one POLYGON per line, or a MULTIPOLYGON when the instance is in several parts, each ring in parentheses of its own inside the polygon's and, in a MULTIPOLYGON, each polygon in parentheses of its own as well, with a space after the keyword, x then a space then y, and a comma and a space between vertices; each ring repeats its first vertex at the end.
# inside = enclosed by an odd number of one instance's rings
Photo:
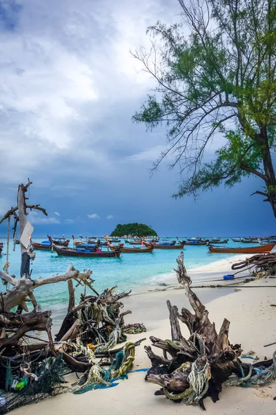
MULTIPOLYGON (((36 242, 42 240, 41 238, 34 239, 36 242)), ((6 240, 0 239, 0 241, 5 243, 3 254, 0 255, 0 269, 2 270, 6 262, 6 240)), ((124 241, 122 240, 122 242, 124 241)), ((239 243, 229 241, 228 246, 239 246, 239 243)), ((138 293, 142 286, 150 286, 170 278, 172 283, 175 283, 176 277, 173 268, 176 268, 175 259, 181 250, 154 250, 152 253, 144 254, 123 253, 120 258, 70 258, 58 257, 55 252, 50 251, 37 250, 35 252, 36 257, 31 266, 32 279, 63 274, 72 262, 78 270, 92 269, 92 278, 95 279, 94 287, 98 292, 117 285, 119 291, 131 289, 132 292, 138 293)), ((190 269, 233 257, 233 254, 210 254, 206 246, 186 246, 184 257, 186 268, 190 269)), ((15 251, 10 246, 9 273, 11 275, 19 277, 20 261, 20 246, 17 245, 15 251)), ((3 290, 5 289, 3 286, 3 290)), ((76 291, 76 299, 82 291, 83 287, 79 286, 76 291)), ((50 307, 52 310, 59 310, 66 307, 68 303, 67 283, 42 286, 35 290, 35 295, 43 309, 50 307)))

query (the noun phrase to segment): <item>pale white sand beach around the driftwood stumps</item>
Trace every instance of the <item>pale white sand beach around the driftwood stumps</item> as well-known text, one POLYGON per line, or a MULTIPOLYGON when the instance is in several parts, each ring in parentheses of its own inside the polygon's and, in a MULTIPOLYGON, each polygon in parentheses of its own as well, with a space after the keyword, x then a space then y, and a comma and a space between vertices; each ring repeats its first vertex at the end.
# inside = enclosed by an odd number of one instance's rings
MULTIPOLYGON (((235 257, 235 261, 240 259, 235 257)), ((230 272, 230 261, 219 261, 217 265, 201 267, 188 272, 192 277, 201 273, 202 279, 221 279, 230 272)), ((172 280, 170 280, 170 283, 172 280)), ((176 282, 176 278, 175 278, 176 282)), ((177 285, 177 284, 176 284, 177 285)), ((210 312, 210 320, 214 321, 217 329, 224 317, 230 320, 230 342, 241 343, 244 353, 255 351, 258 360, 271 358, 276 344, 264 347, 264 344, 276 342, 276 279, 258 279, 254 282, 233 288, 195 288, 195 292, 210 312)), ((136 349, 134 369, 149 368, 150 361, 144 351, 144 345, 150 344, 150 335, 158 338, 170 338, 170 324, 166 300, 178 307, 189 307, 184 290, 169 290, 148 292, 132 295, 124 299, 125 309, 132 310, 127 322, 144 322, 148 331, 139 335, 129 335, 128 340, 136 341, 146 337, 146 341, 136 349)), ((188 335, 188 330, 181 325, 182 334, 188 335)), ((155 350, 155 353, 159 351, 155 350)), ((249 360, 245 360, 249 362, 249 360)), ((250 361, 252 362, 252 360, 250 361)), ((145 372, 135 372, 128 376, 128 380, 120 382, 117 387, 97 389, 85 394, 63 394, 55 398, 43 400, 35 405, 27 405, 14 410, 14 415, 83 415, 83 414, 112 414, 112 415, 165 415, 168 414, 201 414, 199 406, 187 407, 185 403, 175 404, 164 396, 155 396, 159 389, 144 381, 145 372)), ((213 403, 210 398, 204 400, 206 415, 233 415, 241 413, 276 414, 275 382, 267 387, 242 388, 224 387, 220 400, 213 403)))

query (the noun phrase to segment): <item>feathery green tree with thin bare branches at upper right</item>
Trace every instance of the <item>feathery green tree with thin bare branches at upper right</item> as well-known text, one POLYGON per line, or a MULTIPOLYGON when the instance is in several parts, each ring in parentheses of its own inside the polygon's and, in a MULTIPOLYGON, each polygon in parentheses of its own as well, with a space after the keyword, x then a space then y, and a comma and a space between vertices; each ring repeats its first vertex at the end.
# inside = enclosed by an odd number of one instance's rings
POLYGON ((133 120, 167 129, 168 146, 153 169, 173 154, 170 167, 179 165, 181 174, 175 197, 253 174, 264 182, 255 194, 276 216, 276 2, 179 3, 181 23, 157 22, 148 28, 151 50, 133 54, 157 84, 133 120), (206 147, 215 135, 221 145, 209 161, 206 147))

